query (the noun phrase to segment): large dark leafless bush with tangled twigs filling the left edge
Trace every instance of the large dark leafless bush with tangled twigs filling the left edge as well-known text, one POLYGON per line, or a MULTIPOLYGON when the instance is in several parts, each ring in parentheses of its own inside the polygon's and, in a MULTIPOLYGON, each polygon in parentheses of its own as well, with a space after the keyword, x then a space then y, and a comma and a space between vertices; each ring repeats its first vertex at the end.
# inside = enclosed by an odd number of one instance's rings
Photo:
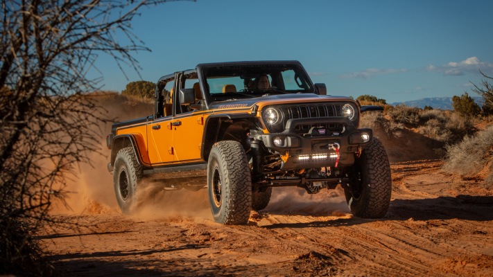
POLYGON ((98 53, 138 69, 132 34, 140 8, 165 2, 1 0, 0 275, 49 276, 33 236, 55 221, 67 175, 99 149, 101 109, 87 91, 98 53), (124 43, 116 37, 126 37, 124 43))

